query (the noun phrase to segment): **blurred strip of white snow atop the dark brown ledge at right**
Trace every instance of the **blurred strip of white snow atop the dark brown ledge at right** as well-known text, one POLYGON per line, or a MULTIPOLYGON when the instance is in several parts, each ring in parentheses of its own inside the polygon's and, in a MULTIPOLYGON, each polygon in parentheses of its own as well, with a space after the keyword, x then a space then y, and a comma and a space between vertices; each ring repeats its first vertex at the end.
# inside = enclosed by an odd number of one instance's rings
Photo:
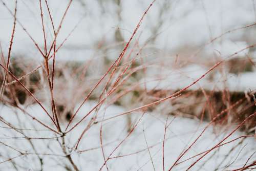
MULTIPOLYGON (((156 72, 158 69, 147 70, 146 78, 142 78, 141 81, 145 81, 147 89, 163 89, 163 90, 179 90, 193 83, 207 72, 209 68, 199 65, 189 65, 180 69, 160 69, 161 72, 156 72)), ((256 72, 243 72, 239 74, 233 74, 226 72, 223 76, 218 72, 213 78, 209 78, 210 74, 207 74, 194 86, 190 87, 190 90, 198 90, 200 87, 205 90, 223 90, 228 88, 229 91, 248 91, 249 89, 256 89, 256 72)), ((143 84, 141 87, 143 88, 143 84)))

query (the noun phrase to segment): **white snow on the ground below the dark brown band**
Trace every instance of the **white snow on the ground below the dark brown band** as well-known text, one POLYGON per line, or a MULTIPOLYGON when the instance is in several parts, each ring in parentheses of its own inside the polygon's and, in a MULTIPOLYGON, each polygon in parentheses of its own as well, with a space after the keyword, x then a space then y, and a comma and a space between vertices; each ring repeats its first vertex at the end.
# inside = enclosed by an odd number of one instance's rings
MULTIPOLYGON (((89 101, 84 105, 78 114, 78 117, 74 122, 77 122, 79 118, 84 116, 95 104, 93 101, 89 101)), ((104 108, 102 108, 104 109, 104 108)), ((38 105, 29 106, 26 109, 30 114, 36 116, 44 123, 51 125, 44 112, 38 105)), ((124 112, 125 109, 120 106, 109 106, 105 110, 105 118, 115 116, 124 112)), ((1 117, 5 118, 9 123, 12 123, 16 127, 23 129, 32 129, 24 131, 25 135, 31 137, 31 142, 34 144, 36 153, 43 161, 44 170, 65 170, 63 165, 69 164, 68 160, 63 157, 60 144, 55 139, 36 139, 39 137, 50 138, 56 137, 55 134, 45 130, 44 127, 38 125, 35 121, 28 118, 22 112, 9 108, 8 106, 1 106, 1 117), (19 121, 18 121, 19 119, 19 121), (33 131, 34 129, 40 129, 39 131, 33 131)), ((98 121, 102 119, 104 110, 100 110, 98 121)), ((142 116, 141 113, 133 113, 132 120, 133 125, 142 116)), ((90 117, 89 117, 90 118, 90 117)), ((72 148, 77 138, 81 134, 82 130, 86 126, 86 123, 90 119, 82 122, 66 137, 67 146, 72 148)), ((108 161, 108 168, 110 170, 162 170, 162 142, 164 137, 165 121, 167 116, 163 116, 160 113, 146 112, 139 121, 135 131, 116 149, 116 151, 110 157, 108 161), (143 133, 144 131, 144 133, 143 133), (146 145, 147 143, 147 145, 146 145), (149 147, 147 149, 147 146, 149 147), (150 151, 150 153, 148 152, 150 151), (151 161, 151 157, 152 161, 151 161), (119 156, 119 157, 118 157, 119 156), (116 157, 116 158, 115 158, 116 157)), ((103 122, 102 126, 102 141, 104 154, 106 158, 112 153, 113 149, 127 136, 127 117, 117 117, 103 122)), ((168 117, 167 124, 170 123, 166 130, 165 144, 164 144, 164 166, 167 170, 177 159, 180 153, 185 147, 190 145, 193 140, 202 132, 202 129, 206 126, 206 122, 200 123, 197 120, 187 118, 174 118, 168 117), (172 121, 172 123, 170 123, 172 121)), ((67 123, 65 123, 67 124, 67 123)), ((84 135, 82 141, 78 147, 78 151, 71 152, 71 156, 75 164, 81 170, 99 170, 104 163, 102 152, 100 148, 100 122, 94 124, 91 129, 84 135)), ((35 153, 28 140, 22 138, 24 135, 15 132, 14 130, 7 129, 6 125, 1 122, 0 129, 0 141, 17 148, 18 150, 28 153, 32 153, 27 156, 17 157, 12 161, 17 163, 18 170, 39 170, 40 163, 38 157, 33 155, 35 153), (5 126, 5 127, 3 127, 5 126)), ((51 127, 54 127, 51 125, 51 127)), ((64 127, 64 123, 62 125, 64 127)), ((225 136, 227 136, 232 130, 232 127, 212 127, 210 126, 203 136, 196 142, 194 146, 184 155, 180 161, 183 161, 191 156, 206 151, 207 149, 216 145, 225 136)), ((235 132, 229 137, 227 142, 231 139, 238 138, 244 135, 242 132, 235 132)), ((198 162, 191 170, 227 170, 232 168, 238 168, 245 164, 250 155, 255 152, 255 139, 246 138, 239 143, 242 139, 236 140, 232 143, 224 145, 218 149, 215 149, 206 157, 198 162), (232 149, 232 147, 235 147, 232 149), (213 155, 213 156, 212 156, 213 155), (229 166, 228 166, 229 165, 229 166), (225 168, 225 166, 228 166, 225 168)), ((0 145, 1 161, 7 160, 18 156, 19 154, 12 148, 3 144, 0 145)), ((185 170, 191 163, 195 162, 196 158, 190 159, 182 164, 174 167, 174 170, 185 170)), ((249 162, 256 159, 256 156, 252 156, 249 162)), ((11 162, 4 162, 0 164, 0 170, 13 170, 11 162)), ((104 167, 103 170, 106 170, 104 167)))

